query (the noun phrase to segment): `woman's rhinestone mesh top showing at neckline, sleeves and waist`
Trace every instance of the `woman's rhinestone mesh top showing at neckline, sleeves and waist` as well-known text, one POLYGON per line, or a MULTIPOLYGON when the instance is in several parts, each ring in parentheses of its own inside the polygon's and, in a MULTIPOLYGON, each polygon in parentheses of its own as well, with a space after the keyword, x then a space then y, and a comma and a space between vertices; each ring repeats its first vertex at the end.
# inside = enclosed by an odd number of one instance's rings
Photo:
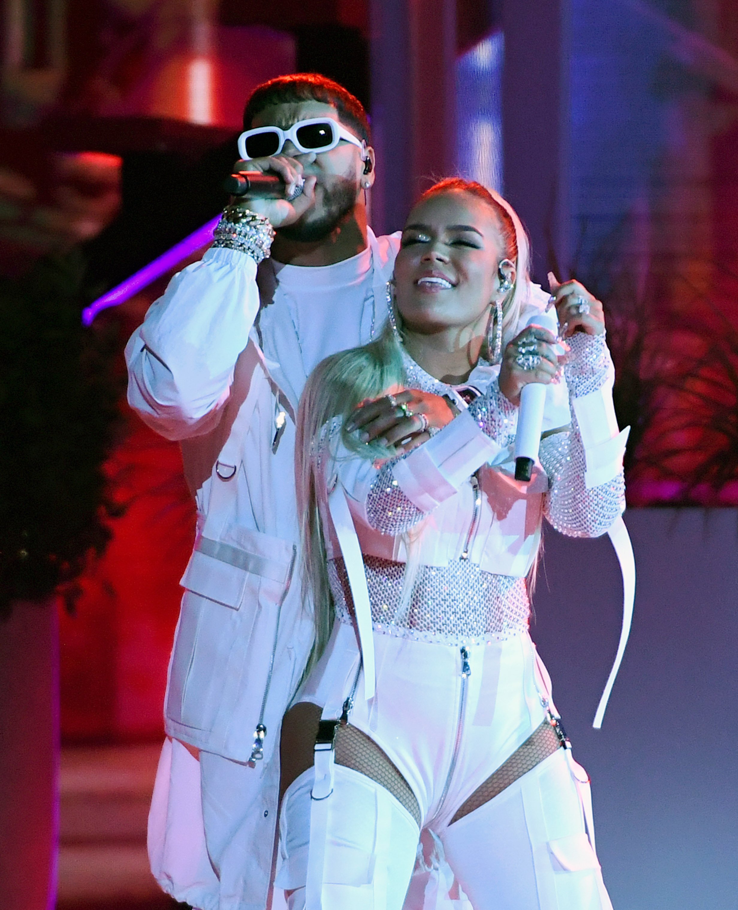
MULTIPOLYGON (((575 335, 570 344, 563 374, 570 399, 575 399, 602 388, 612 375, 612 359, 603 335, 575 335)), ((403 356, 408 388, 453 393, 453 387, 431 377, 404 351, 403 356)), ((500 392, 497 371, 487 368, 472 375, 474 384, 482 388, 469 406, 471 415, 500 446, 511 445, 517 409, 500 392)), ((540 460, 549 478, 543 513, 558 531, 595 537, 622 514, 622 471, 607 483, 586 489, 585 453, 573 410, 569 428, 541 440, 540 460)), ((426 517, 394 480, 396 461, 390 460, 378 471, 366 504, 371 527, 392 536, 407 533, 426 517)), ((432 530, 423 531, 427 532, 432 530)), ((500 640, 528 626, 530 601, 524 578, 483 571, 470 560, 412 569, 402 562, 365 555, 364 567, 377 632, 453 644, 500 640)), ((329 581, 339 619, 352 622, 349 581, 341 559, 329 561, 329 581)))

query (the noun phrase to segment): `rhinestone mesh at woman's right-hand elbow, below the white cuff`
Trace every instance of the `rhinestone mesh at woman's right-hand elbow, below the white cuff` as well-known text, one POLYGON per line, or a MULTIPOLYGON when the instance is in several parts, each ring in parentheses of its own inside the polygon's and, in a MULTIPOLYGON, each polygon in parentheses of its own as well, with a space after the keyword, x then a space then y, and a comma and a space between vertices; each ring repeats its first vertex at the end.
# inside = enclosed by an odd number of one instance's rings
POLYGON ((551 483, 543 513, 562 534, 599 537, 625 509, 625 480, 621 470, 607 483, 587 490, 584 448, 573 414, 571 423, 571 431, 552 433, 541 440, 539 457, 551 483))

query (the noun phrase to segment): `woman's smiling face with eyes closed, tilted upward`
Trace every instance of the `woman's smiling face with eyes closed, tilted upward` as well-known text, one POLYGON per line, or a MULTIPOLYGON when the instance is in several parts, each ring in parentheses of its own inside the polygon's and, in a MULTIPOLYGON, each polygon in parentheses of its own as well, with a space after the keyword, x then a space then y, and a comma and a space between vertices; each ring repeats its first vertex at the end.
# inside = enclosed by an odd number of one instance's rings
MULTIPOLYGON (((395 261, 395 292, 405 326, 420 335, 484 332, 500 296, 504 257, 497 215, 482 199, 450 190, 409 214, 395 261)), ((512 276, 514 280, 514 275, 512 276)))

